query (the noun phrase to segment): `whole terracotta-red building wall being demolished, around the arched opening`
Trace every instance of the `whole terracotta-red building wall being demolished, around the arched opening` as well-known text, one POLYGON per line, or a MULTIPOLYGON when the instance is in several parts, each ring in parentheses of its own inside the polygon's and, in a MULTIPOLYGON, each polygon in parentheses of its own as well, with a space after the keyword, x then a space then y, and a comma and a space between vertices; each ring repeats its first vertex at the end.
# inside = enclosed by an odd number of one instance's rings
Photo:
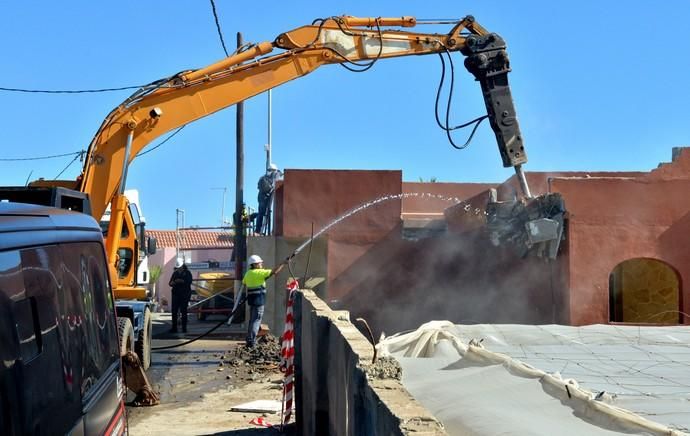
MULTIPOLYGON (((448 233, 401 237, 401 214, 438 214, 443 201, 392 200, 328 232, 328 302, 364 316, 374 329, 415 328, 430 319, 455 322, 609 321, 609 276, 631 258, 666 262, 678 272, 680 309, 690 312, 690 154, 649 173, 528 173, 532 192, 560 192, 569 211, 556 261, 519 259, 493 247, 484 207, 491 185, 402 183, 399 171, 287 170, 277 197, 276 229, 308 237, 353 207, 382 195, 432 192, 472 196, 443 211, 448 233)), ((515 192, 511 178, 499 198, 515 192)))

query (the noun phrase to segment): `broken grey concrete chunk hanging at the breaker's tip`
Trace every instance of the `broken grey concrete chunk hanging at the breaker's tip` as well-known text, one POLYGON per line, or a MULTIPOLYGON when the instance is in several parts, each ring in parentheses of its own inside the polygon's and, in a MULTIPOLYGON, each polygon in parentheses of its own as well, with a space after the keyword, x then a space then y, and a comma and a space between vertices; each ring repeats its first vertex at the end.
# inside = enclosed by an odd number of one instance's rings
POLYGON ((520 257, 555 259, 558 255, 566 213, 560 194, 496 201, 494 191, 486 213, 489 237, 495 246, 510 244, 520 257))

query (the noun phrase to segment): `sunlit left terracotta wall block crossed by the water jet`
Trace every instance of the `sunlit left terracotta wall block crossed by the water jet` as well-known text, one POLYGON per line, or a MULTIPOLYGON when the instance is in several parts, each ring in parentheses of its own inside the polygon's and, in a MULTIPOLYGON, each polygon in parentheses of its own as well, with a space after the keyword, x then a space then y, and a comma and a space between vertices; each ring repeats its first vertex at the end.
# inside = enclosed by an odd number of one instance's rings
MULTIPOLYGON (((311 235, 348 211, 387 195, 402 192, 401 171, 286 170, 276 208, 282 223, 279 236, 311 235)), ((337 277, 372 245, 399 228, 401 199, 378 203, 328 230, 326 300, 338 300, 352 288, 337 277)))

